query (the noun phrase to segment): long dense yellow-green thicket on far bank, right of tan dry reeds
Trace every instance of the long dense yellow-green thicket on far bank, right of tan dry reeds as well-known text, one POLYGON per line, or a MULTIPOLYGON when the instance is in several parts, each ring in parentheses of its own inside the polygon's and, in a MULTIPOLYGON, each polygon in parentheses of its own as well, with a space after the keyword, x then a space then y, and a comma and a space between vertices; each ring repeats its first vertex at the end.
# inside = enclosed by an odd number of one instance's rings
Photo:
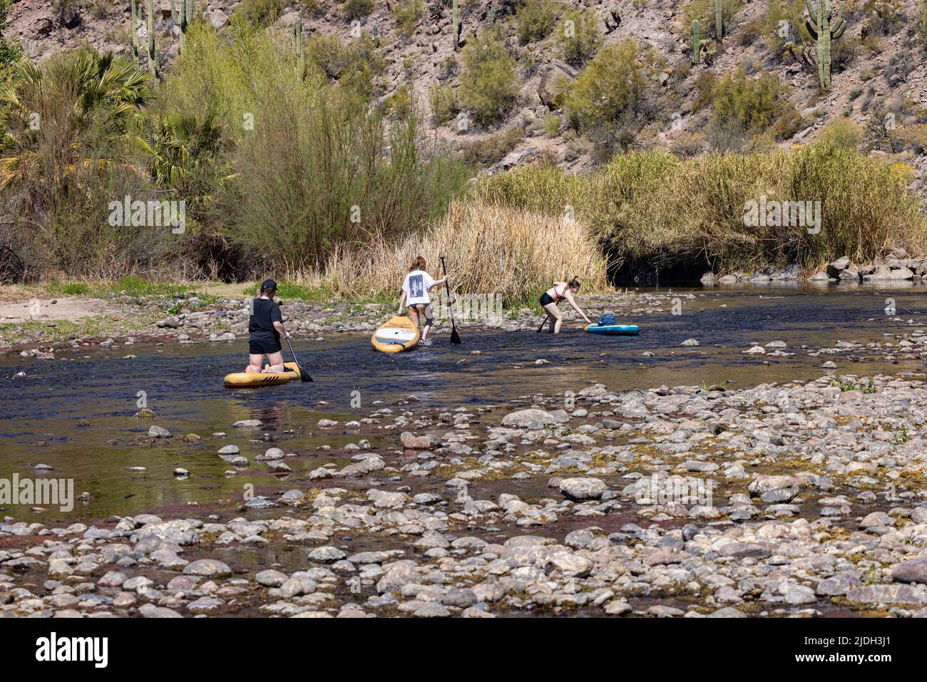
POLYGON ((549 216, 574 207, 617 267, 637 261, 666 270, 701 261, 717 271, 749 272, 794 261, 819 267, 843 255, 867 262, 895 245, 920 252, 927 219, 908 193, 912 177, 907 166, 825 142, 694 158, 630 152, 585 175, 540 166, 498 173, 482 178, 476 192, 549 216), (820 201, 820 232, 744 225, 745 202, 761 195, 820 201))

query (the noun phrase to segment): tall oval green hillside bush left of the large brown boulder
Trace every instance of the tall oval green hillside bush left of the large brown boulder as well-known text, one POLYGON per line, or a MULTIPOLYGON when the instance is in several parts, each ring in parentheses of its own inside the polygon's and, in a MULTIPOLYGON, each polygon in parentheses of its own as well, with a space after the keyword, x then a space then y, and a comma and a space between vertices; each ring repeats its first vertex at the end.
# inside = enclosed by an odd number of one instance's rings
POLYGON ((496 31, 475 35, 463 52, 460 99, 470 117, 480 125, 502 120, 518 96, 515 60, 496 31))

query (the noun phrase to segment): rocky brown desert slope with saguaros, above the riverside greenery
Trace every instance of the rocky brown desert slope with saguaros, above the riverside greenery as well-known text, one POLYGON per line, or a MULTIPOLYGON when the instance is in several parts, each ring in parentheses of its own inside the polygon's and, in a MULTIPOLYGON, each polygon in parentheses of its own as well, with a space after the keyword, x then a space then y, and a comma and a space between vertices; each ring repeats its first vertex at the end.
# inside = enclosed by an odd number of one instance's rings
MULTIPOLYGON (((144 0, 139 5, 146 12, 144 0)), ((159 60, 170 69, 180 31, 171 19, 170 0, 154 5, 159 60)), ((784 119, 777 112, 781 122, 774 126, 771 143, 802 144, 842 119, 878 132, 885 128, 886 114, 894 113, 887 134, 868 134, 868 145, 904 153, 918 166, 919 175, 923 170, 925 135, 922 129, 914 130, 922 124, 921 107, 927 104, 923 3, 918 0, 851 0, 838 7, 846 29, 834 41, 827 92, 819 88, 816 45, 806 32, 807 12, 800 0, 724 0, 722 14, 727 19, 720 41, 714 35, 711 0, 461 0, 456 52, 451 0, 197 0, 194 5, 197 17, 223 32, 241 13, 269 26, 290 27, 301 20, 307 44, 324 36, 335 36, 342 44, 357 40, 362 32, 375 36, 380 59, 376 97, 387 102, 409 96, 411 90, 433 115, 438 139, 467 150, 492 169, 544 158, 565 169, 584 170, 613 153, 616 140, 622 145, 675 147, 686 155, 742 144, 710 129, 712 106, 705 103, 705 83, 745 67, 753 78, 762 73, 773 76, 794 109, 784 119), (601 33, 601 42, 593 41, 586 54, 570 54, 560 35, 574 9, 588 9, 601 33), (698 64, 692 63, 692 17, 708 18, 701 21, 698 64), (516 82, 504 83, 514 96, 511 106, 498 115, 476 120, 470 116, 462 128, 459 116, 466 109, 456 91, 461 87, 463 50, 491 31, 502 34, 514 57, 516 82), (569 126, 557 88, 575 79, 597 52, 629 39, 654 50, 658 87, 646 95, 649 101, 643 108, 648 111, 624 121, 618 134, 569 126)), ((82 44, 126 52, 131 30, 129 2, 14 0, 4 35, 41 60, 82 44)), ((144 44, 145 20, 138 20, 135 30, 144 44)), ((343 69, 355 67, 346 63, 343 69)))

